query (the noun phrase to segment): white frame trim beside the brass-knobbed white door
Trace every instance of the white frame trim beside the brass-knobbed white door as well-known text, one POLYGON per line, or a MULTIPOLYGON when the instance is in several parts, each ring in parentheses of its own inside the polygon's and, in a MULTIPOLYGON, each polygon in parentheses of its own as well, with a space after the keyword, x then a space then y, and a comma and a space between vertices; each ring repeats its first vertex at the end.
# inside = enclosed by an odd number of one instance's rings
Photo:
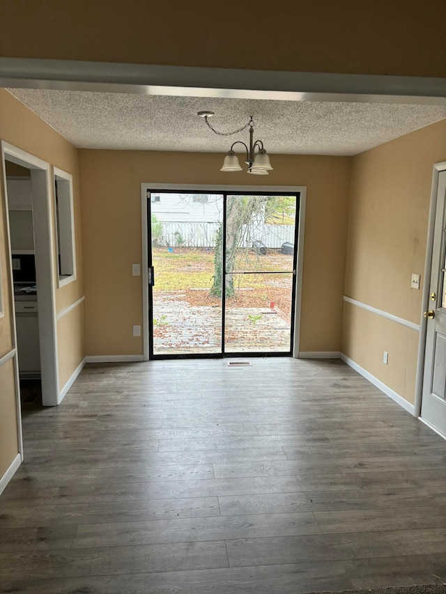
MULTIPOLYGON (((417 375, 415 380, 415 403, 414 416, 424 422, 421 416, 422 391, 424 381, 424 360, 426 356, 426 332, 427 319, 424 318, 424 311, 429 309, 429 288, 431 286, 431 268, 433 252, 433 230, 435 227, 437 196, 438 196, 438 178, 440 172, 446 171, 446 161, 433 165, 432 184, 431 184, 431 203, 429 208, 429 224, 427 230, 426 242, 426 260, 424 263, 424 283, 420 312, 420 339, 418 341, 417 375)), ((430 426, 430 425, 429 425, 430 426)), ((444 436, 443 436, 444 437, 444 436)))

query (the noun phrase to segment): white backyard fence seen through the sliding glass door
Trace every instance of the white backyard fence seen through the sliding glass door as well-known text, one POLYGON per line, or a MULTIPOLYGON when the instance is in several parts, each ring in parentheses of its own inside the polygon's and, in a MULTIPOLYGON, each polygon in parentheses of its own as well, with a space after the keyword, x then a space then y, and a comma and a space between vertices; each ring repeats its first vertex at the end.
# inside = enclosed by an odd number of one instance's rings
MULTIPOLYGON (((215 247, 220 223, 161 223, 155 243, 170 247, 215 247)), ((285 242, 294 244, 294 225, 260 225, 243 228, 241 247, 261 241, 266 247, 279 248, 285 242)))

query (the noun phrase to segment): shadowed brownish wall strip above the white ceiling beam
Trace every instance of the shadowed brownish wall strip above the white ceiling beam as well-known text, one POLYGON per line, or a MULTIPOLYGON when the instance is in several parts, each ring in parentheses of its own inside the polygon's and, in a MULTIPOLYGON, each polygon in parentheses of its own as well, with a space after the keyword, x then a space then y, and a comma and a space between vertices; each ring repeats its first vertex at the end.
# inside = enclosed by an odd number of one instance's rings
POLYGON ((2 56, 446 75, 443 0, 0 0, 0 23, 2 56))

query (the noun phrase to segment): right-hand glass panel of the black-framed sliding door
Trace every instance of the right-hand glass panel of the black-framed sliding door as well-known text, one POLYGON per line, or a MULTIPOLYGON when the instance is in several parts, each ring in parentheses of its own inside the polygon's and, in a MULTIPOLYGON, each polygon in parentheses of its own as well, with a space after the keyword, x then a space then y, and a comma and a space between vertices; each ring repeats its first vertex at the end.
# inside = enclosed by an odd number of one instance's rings
POLYGON ((225 352, 290 352, 295 213, 295 196, 227 196, 225 352))

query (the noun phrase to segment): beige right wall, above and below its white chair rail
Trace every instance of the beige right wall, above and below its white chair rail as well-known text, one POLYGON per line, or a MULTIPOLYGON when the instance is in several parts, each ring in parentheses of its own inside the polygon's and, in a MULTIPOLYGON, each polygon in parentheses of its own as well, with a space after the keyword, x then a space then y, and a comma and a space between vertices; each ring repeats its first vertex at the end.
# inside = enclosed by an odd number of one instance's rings
MULTIPOLYGON (((432 168, 443 160, 446 120, 353 157, 348 297, 420 323, 432 168), (413 272, 422 276, 420 290, 410 288, 413 272)), ((344 308, 344 354, 413 402, 418 333, 357 310, 344 308)))

